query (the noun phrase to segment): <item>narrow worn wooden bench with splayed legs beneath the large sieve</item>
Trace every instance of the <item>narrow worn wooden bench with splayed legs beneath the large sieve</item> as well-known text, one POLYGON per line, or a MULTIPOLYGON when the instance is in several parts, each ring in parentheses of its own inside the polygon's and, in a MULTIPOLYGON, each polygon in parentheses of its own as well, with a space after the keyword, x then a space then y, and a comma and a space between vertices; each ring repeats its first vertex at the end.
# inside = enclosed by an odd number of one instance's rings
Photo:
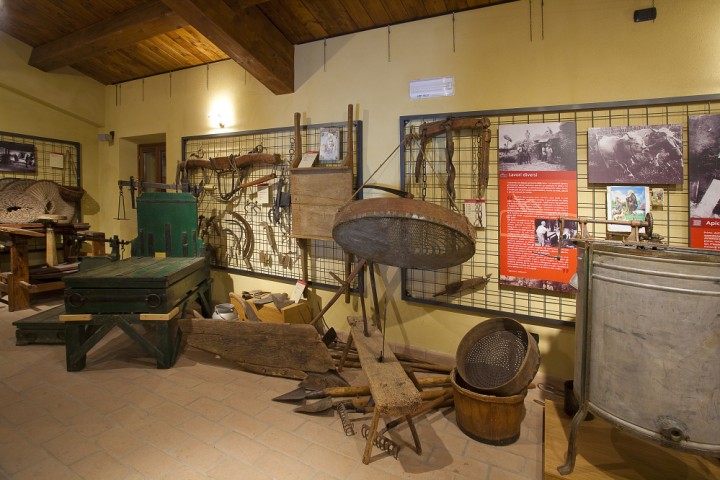
POLYGON ((412 421, 412 414, 422 405, 420 392, 392 351, 389 348, 383 351, 383 336, 377 328, 368 326, 369 336, 366 337, 362 317, 348 317, 348 323, 348 343, 353 342, 358 351, 360 366, 368 378, 370 394, 375 402, 363 463, 370 463, 381 416, 404 417, 415 442, 415 451, 420 455, 420 439, 412 421))

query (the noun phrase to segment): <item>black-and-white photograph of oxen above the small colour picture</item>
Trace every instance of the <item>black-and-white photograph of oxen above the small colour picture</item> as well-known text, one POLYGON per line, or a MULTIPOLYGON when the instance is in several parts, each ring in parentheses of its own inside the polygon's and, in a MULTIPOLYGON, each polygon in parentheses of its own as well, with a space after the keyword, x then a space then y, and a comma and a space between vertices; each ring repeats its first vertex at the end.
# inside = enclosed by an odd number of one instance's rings
POLYGON ((682 125, 588 129, 588 182, 673 185, 682 181, 682 125))

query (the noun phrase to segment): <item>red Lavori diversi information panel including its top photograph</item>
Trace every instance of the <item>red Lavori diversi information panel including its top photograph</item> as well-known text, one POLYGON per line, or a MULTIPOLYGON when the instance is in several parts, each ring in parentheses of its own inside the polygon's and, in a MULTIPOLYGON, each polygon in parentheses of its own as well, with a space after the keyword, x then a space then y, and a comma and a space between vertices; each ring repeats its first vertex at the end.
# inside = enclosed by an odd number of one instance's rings
POLYGON ((500 138, 510 140, 499 153, 500 283, 574 292, 578 225, 560 217, 577 218, 575 126, 502 127, 500 138))

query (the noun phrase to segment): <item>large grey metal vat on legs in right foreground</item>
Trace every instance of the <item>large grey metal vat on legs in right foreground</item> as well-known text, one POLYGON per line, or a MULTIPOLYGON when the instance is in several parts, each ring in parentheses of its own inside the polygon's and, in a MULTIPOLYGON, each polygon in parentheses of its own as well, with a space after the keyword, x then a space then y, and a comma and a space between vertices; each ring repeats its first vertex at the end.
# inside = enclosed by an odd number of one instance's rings
POLYGON ((590 411, 645 440, 720 456, 720 252, 584 242, 568 457, 590 411))

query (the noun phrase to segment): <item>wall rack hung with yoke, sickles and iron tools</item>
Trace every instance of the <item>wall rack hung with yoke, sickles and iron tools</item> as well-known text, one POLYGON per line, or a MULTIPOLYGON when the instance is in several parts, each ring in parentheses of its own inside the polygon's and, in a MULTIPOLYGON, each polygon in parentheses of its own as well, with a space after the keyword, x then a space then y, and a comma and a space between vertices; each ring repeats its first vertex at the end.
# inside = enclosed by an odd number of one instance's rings
MULTIPOLYGON (((362 122, 350 125, 339 121, 182 139, 178 179, 200 186, 198 231, 212 247, 214 267, 293 282, 303 278, 299 239, 292 236, 290 170, 298 155, 319 152, 328 132, 338 137, 337 158, 318 156, 308 168, 340 167, 352 136, 351 174, 357 185, 362 178, 362 122)), ((332 239, 302 241, 308 245, 308 282, 336 288, 333 275, 342 277, 346 270, 342 249, 332 239)))

